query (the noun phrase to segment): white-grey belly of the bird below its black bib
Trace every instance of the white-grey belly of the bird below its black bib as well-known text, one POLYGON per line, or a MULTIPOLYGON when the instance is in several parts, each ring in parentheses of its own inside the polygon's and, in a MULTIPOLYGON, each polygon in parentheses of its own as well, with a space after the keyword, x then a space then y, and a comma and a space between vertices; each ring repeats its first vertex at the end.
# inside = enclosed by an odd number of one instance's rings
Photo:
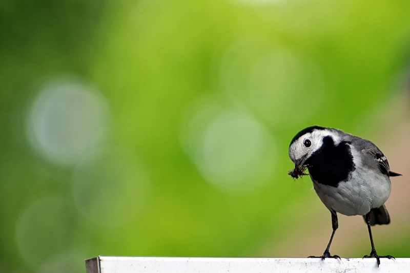
MULTIPOLYGON (((365 215, 386 202, 391 191, 390 179, 361 169, 337 187, 315 182, 313 187, 323 204, 344 215, 365 215), (358 175, 361 174, 361 175, 358 175)), ((311 177, 312 178, 312 177, 311 177)))

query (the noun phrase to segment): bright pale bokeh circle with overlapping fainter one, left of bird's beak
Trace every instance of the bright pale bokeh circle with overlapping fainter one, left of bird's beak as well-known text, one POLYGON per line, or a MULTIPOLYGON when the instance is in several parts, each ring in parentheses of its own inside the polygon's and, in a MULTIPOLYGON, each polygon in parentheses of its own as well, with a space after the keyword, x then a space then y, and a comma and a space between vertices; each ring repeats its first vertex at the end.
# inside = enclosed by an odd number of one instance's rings
POLYGON ((269 180, 275 147, 262 123, 243 110, 210 101, 188 112, 182 145, 204 179, 234 193, 269 180))

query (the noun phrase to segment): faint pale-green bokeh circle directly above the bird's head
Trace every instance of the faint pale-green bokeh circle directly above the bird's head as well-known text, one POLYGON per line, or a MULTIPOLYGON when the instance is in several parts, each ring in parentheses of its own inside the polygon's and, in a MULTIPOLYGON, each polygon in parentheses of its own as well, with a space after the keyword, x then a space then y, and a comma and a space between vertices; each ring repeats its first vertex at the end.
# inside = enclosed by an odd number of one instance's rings
POLYGON ((301 124, 324 100, 323 76, 312 61, 291 51, 272 51, 253 64, 248 97, 252 109, 270 124, 301 124))

